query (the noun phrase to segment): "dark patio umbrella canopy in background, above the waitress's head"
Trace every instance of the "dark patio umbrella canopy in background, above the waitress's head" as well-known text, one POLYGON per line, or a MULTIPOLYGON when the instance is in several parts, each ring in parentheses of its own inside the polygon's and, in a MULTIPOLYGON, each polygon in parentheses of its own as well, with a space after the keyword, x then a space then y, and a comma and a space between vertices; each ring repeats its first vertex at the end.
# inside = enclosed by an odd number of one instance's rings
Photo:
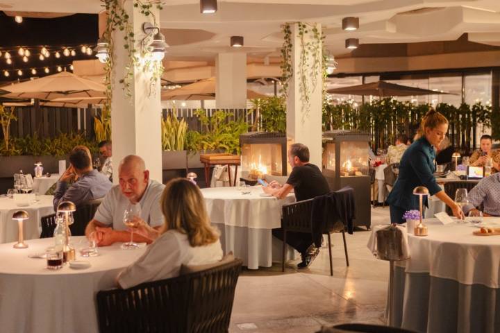
POLYGON ((326 92, 329 92, 330 94, 372 95, 379 97, 449 94, 448 92, 435 92, 434 90, 397 85, 395 83, 388 83, 385 81, 329 89, 326 92))

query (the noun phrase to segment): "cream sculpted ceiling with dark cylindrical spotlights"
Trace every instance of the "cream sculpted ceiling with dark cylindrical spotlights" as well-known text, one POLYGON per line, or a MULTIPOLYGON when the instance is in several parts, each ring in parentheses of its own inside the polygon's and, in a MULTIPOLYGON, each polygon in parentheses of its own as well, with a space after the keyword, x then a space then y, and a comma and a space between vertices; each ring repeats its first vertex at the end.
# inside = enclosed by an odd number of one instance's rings
MULTIPOLYGON (((457 40, 500 46, 499 0, 219 0, 213 15, 199 12, 199 0, 165 0, 160 24, 172 37, 167 60, 213 60, 231 35, 244 36, 238 49, 251 57, 279 56, 285 22, 318 22, 335 56, 349 53, 344 40, 360 44, 457 40), (249 2, 251 1, 251 2, 249 2), (342 31, 342 17, 360 18, 358 31, 342 31), (177 30, 178 29, 178 30, 177 30)), ((0 10, 97 13, 100 0, 0 0, 0 10)))

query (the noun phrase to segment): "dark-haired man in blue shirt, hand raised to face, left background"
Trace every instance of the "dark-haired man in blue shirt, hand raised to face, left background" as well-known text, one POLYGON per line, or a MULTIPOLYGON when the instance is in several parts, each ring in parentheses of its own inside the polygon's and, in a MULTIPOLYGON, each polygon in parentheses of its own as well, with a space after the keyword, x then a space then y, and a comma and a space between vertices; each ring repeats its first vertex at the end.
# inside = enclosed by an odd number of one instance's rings
POLYGON ((77 207, 83 203, 106 196, 113 186, 99 171, 92 169, 90 151, 85 146, 76 146, 69 155, 69 168, 58 180, 54 192, 54 210, 63 201, 71 201, 77 207), (73 185, 68 187, 70 180, 73 185))

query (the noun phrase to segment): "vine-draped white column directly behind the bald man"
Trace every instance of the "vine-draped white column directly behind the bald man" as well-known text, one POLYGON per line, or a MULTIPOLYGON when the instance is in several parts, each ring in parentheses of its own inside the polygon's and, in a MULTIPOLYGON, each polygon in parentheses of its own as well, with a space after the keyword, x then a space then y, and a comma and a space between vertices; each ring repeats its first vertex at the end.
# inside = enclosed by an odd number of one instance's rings
MULTIPOLYGON (((154 6, 153 6, 154 7, 154 6)), ((126 0, 124 8, 128 12, 129 22, 133 26, 136 49, 144 37, 142 23, 151 22, 133 8, 133 1, 126 0)), ((151 8, 160 22, 160 12, 151 8)), ((131 93, 129 98, 124 92, 124 85, 119 80, 124 78, 125 67, 128 65, 128 52, 124 49, 124 33, 118 29, 113 34, 115 42, 115 62, 113 67, 113 99, 111 101, 111 139, 113 141, 113 182, 118 182, 118 165, 126 155, 139 155, 146 162, 149 176, 162 182, 162 152, 161 152, 161 103, 160 83, 150 93, 151 74, 143 73, 135 68, 131 78, 131 93)))

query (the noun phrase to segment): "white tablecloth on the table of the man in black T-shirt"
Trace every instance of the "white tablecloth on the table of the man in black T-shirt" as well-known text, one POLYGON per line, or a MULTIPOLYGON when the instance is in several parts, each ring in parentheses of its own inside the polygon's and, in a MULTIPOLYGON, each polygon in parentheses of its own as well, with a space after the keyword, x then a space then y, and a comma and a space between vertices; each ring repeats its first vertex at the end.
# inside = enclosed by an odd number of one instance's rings
MULTIPOLYGON (((235 187, 201 189, 210 221, 221 230, 224 253, 233 251, 243 260, 244 266, 272 266, 273 252, 271 230, 281 228, 281 206, 295 201, 293 194, 283 200, 260 196, 262 188, 252 187, 251 194, 241 194, 235 187)), ((281 251, 281 250, 280 250, 281 251)))

